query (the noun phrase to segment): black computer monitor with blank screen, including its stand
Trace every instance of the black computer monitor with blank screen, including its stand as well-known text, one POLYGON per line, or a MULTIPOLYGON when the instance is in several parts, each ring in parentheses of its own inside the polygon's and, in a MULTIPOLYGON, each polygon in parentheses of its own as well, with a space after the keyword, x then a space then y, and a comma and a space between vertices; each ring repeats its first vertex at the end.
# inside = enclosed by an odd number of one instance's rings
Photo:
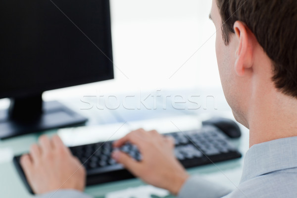
POLYGON ((83 124, 44 91, 113 78, 108 0, 1 0, 0 139, 83 124))

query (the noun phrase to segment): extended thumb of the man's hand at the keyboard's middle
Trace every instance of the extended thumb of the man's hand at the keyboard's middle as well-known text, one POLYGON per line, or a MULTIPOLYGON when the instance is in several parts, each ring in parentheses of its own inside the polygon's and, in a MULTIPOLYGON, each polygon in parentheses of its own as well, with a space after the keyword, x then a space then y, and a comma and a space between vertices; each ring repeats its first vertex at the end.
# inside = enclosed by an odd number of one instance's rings
POLYGON ((138 176, 140 173, 141 162, 136 161, 128 154, 120 151, 115 150, 111 154, 112 158, 116 160, 118 163, 122 164, 125 168, 127 168, 130 172, 134 175, 138 176))

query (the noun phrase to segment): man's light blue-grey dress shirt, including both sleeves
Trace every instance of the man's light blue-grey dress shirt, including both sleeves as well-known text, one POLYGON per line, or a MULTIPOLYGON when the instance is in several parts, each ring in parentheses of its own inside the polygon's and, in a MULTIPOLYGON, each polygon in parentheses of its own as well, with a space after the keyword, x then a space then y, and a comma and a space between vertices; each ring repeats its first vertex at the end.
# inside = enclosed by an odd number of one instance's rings
MULTIPOLYGON (((49 198, 52 193, 42 195, 49 198)), ((57 191, 50 198, 91 198, 77 191, 57 191)), ((190 177, 178 198, 297 198, 297 137, 254 145, 247 151, 243 175, 234 191, 190 177)))

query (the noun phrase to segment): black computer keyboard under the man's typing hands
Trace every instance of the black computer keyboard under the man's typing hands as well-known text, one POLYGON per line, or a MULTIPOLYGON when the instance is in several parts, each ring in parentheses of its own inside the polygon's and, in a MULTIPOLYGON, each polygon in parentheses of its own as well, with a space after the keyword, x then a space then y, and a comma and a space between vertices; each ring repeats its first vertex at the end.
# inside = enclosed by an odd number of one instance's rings
MULTIPOLYGON (((218 128, 206 125, 199 130, 164 134, 175 139, 174 153, 185 168, 225 161, 241 157, 227 137, 218 128)), ((112 142, 100 142, 77 147, 70 147, 87 170, 87 186, 133 178, 134 176, 121 164, 111 158, 112 142)), ((126 144, 122 151, 136 160, 141 160, 141 153, 135 145, 126 144)), ((14 164, 28 190, 32 192, 24 172, 19 164, 20 156, 13 158, 14 164)))

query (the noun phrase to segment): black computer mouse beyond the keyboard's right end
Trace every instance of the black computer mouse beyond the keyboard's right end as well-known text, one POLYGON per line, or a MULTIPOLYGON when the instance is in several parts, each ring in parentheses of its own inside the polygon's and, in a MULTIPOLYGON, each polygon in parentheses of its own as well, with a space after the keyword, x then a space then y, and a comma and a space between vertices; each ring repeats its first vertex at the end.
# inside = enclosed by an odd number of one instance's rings
POLYGON ((230 138, 239 138, 241 136, 241 130, 238 124, 231 119, 214 117, 203 121, 202 125, 216 126, 230 138))

